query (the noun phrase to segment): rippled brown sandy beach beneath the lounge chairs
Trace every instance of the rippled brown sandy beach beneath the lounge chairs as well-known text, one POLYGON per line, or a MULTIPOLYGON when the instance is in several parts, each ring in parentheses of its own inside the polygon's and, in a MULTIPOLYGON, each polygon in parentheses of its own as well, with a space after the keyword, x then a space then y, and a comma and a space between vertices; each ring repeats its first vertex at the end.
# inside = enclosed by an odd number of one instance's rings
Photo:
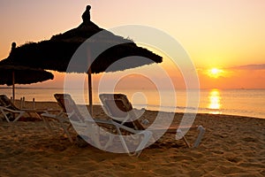
MULTIPOLYGON (((59 109, 57 103, 36 107, 59 109)), ((94 111, 102 115, 100 106, 94 111)), ((145 112, 144 119, 155 115, 145 112)), ((176 113, 174 123, 181 118, 176 113)), ((80 148, 59 128, 49 134, 42 120, 0 124, 0 176, 265 176, 265 119, 197 114, 194 125, 207 129, 198 148, 163 135, 139 158, 80 148)))

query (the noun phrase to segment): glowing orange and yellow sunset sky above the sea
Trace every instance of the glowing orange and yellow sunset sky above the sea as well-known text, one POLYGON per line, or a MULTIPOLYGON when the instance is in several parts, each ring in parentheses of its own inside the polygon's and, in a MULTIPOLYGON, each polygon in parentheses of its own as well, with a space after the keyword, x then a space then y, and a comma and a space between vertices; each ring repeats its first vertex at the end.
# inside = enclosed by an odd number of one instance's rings
MULTIPOLYGON (((100 27, 145 25, 175 38, 192 58, 201 88, 265 88, 263 0, 2 0, 0 59, 8 56, 11 42, 38 42, 77 27, 87 4, 100 27), (216 76, 208 73, 214 67, 222 72, 216 76)), ((167 70, 177 88, 185 87, 178 68, 170 68, 168 58, 159 66, 167 70)), ((142 69, 155 73, 153 65, 142 69)), ((98 78, 94 76, 95 82, 98 78)), ((55 81, 32 86, 62 87, 63 79, 64 74, 56 73, 55 81)), ((130 83, 135 85, 135 81, 130 83)))

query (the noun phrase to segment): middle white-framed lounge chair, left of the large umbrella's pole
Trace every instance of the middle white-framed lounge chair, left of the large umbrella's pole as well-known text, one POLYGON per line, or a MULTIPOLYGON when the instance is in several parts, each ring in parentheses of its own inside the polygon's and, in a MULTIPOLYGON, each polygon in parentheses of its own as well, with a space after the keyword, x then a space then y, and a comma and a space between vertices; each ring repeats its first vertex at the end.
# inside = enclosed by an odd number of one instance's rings
POLYGON ((139 156, 141 150, 145 148, 146 144, 151 138, 151 132, 149 131, 138 131, 133 128, 126 127, 125 125, 121 125, 112 119, 88 119, 84 117, 79 112, 79 107, 77 104, 75 104, 69 94, 55 94, 54 96, 57 100, 57 104, 60 105, 63 112, 60 112, 59 114, 42 113, 42 118, 46 119, 49 129, 49 119, 57 120, 70 142, 73 142, 73 140, 69 130, 70 128, 74 127, 76 132, 81 135, 81 137, 88 136, 93 141, 93 145, 101 150, 108 150, 115 138, 118 138, 126 153, 133 156, 139 156), (114 137, 113 134, 109 134, 107 141, 102 143, 100 141, 102 127, 110 128, 110 132, 116 133, 117 136, 114 137), (123 136, 124 131, 128 134, 140 135, 140 142, 137 144, 135 150, 129 150, 128 142, 123 136))

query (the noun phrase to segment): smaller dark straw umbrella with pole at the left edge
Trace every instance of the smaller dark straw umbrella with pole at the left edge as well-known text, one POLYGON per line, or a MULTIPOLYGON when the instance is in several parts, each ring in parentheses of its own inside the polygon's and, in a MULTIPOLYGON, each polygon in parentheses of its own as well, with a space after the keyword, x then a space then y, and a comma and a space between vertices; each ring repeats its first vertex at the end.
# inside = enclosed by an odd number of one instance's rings
POLYGON ((31 84, 53 80, 54 75, 43 69, 14 65, 6 59, 0 62, 0 85, 12 86, 12 97, 15 99, 15 84, 31 84))

